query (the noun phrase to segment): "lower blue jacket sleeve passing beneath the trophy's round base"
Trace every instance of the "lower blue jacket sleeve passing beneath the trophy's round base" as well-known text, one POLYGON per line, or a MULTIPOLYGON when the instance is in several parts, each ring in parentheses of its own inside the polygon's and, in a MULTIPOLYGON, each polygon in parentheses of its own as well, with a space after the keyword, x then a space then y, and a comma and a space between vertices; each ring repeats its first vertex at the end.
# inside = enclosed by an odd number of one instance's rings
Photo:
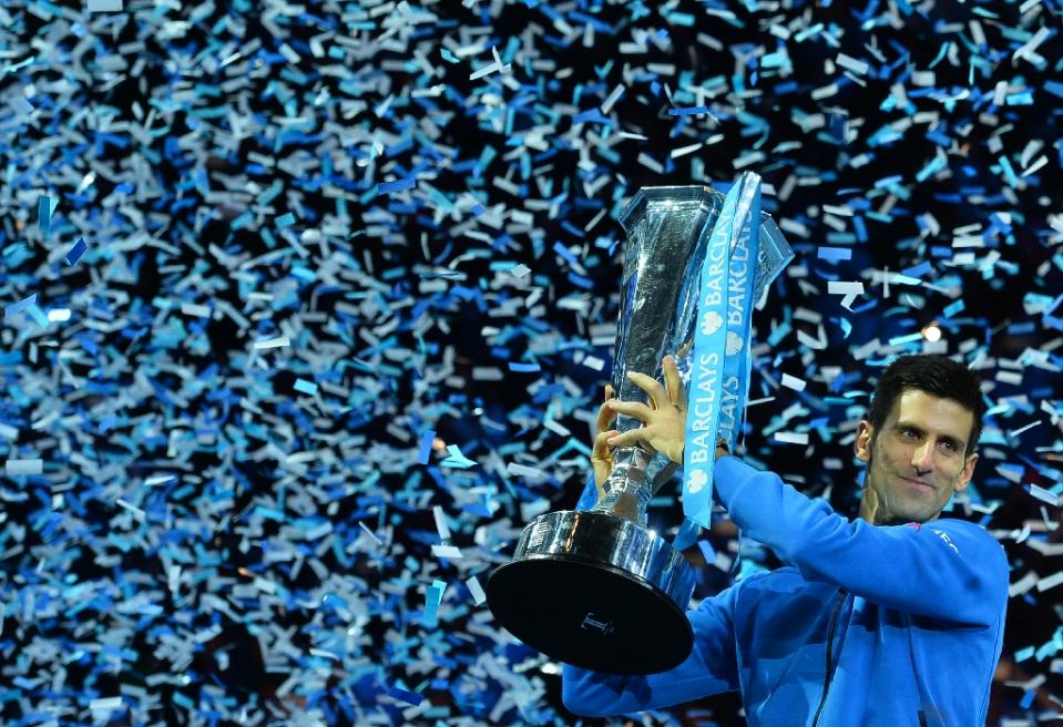
POLYGON ((656 709, 738 688, 734 608, 740 582, 686 612, 694 648, 674 669, 646 676, 602 674, 565 664, 561 699, 585 717, 656 709))

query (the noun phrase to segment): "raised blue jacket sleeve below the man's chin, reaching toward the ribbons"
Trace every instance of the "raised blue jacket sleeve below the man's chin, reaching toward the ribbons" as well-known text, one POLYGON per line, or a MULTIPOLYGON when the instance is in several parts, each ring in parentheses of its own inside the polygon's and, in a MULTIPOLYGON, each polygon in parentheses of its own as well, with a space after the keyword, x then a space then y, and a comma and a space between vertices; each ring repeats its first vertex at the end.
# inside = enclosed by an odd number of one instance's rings
POLYGON ((892 608, 991 626, 1008 601, 1008 559, 978 525, 960 520, 877 526, 849 521, 777 474, 734 457, 716 461, 719 500, 745 534, 809 581, 834 583, 892 608))

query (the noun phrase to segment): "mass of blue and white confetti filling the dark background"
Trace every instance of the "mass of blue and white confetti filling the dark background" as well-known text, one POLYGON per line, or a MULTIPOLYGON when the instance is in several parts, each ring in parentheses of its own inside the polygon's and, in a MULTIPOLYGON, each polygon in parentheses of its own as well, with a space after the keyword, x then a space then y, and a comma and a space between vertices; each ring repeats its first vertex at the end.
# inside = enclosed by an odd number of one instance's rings
MULTIPOLYGON (((0 9, 4 724, 571 724, 481 584, 585 485, 620 212, 742 168, 797 258, 740 455, 856 516, 882 367, 962 359, 990 413, 942 516, 1006 550, 1003 654, 1045 678, 993 714, 1054 688, 1052 6, 781 3, 732 42, 756 3, 159 4, 0 9)), ((670 487, 651 519, 707 597, 737 543, 670 487)))

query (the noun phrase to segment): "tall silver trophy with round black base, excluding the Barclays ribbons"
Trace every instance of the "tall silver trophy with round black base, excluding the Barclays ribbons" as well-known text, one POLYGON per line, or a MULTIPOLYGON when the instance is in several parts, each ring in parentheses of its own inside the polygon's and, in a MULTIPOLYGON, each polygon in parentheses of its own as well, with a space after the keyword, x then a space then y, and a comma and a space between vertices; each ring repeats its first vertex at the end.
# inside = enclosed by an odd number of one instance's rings
MULTIPOLYGON (((724 199, 705 186, 647 187, 621 214, 627 244, 612 386, 622 400, 648 402, 628 371, 660 380, 663 356, 689 350, 698 274, 724 199)), ((762 215, 750 305, 791 257, 775 222, 762 215)), ((686 368, 681 361, 681 372, 686 368)), ((640 426, 620 414, 614 429, 640 426)), ((694 572, 646 528, 653 483, 666 465, 642 447, 617 449, 605 496, 592 510, 530 522, 513 559, 487 583, 502 626, 551 658, 596 672, 655 674, 686 659, 694 572)))

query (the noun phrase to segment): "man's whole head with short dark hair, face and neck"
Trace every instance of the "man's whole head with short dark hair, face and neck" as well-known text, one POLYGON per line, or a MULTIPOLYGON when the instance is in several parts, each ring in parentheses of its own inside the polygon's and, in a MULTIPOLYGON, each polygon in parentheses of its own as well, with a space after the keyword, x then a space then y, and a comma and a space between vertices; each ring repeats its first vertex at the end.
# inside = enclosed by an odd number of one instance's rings
POLYGON ((882 372, 857 458, 867 463, 860 516, 875 524, 936 520, 974 472, 982 432, 978 378, 946 356, 904 356, 882 372))

